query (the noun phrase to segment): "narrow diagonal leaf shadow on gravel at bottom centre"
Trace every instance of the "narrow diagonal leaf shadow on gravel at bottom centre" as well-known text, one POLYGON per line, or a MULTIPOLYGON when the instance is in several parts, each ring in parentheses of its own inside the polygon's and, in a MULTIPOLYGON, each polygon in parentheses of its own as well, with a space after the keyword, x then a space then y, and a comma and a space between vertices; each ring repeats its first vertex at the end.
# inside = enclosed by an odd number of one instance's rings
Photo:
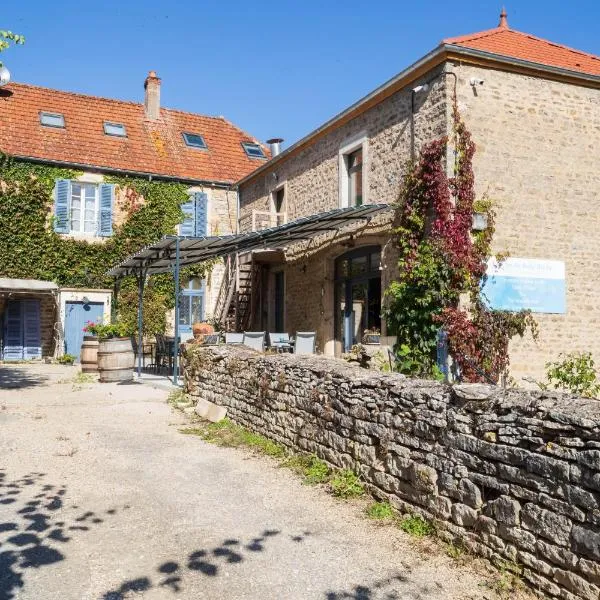
MULTIPOLYGON (((157 565, 152 575, 123 581, 115 589, 106 592, 102 600, 124 600, 129 592, 141 593, 151 588, 162 588, 178 594, 183 591, 184 575, 218 577, 223 565, 240 564, 252 555, 263 552, 269 540, 279 535, 281 531, 278 529, 266 529, 249 540, 227 538, 213 548, 199 548, 190 552, 183 563, 166 561, 157 565)), ((290 539, 300 543, 307 535, 310 533, 304 532, 303 535, 290 536, 290 539)))

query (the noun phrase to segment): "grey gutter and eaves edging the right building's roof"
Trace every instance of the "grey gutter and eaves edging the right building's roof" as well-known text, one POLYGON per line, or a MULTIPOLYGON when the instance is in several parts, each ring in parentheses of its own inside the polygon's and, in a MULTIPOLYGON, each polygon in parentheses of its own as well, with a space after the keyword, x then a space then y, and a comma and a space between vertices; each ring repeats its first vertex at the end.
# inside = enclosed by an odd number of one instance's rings
POLYGON ((373 100, 376 100, 378 96, 381 96, 380 99, 375 102, 378 104, 382 102, 385 98, 390 96, 394 91, 392 91, 399 83, 403 85, 398 88, 402 89, 406 87, 409 83, 417 79, 421 76, 421 70, 428 66, 429 70, 433 67, 437 66, 439 63, 443 62, 447 59, 457 58, 460 59, 461 56, 471 57, 476 59, 482 59, 488 62, 496 62, 504 65, 511 65, 513 67, 517 67, 527 71, 534 71, 537 73, 554 75, 559 78, 568 78, 574 79, 579 82, 586 82, 588 84, 592 84, 592 87, 600 88, 600 76, 599 75, 589 75, 586 73, 581 73, 580 71, 572 71, 570 69, 565 69, 563 67, 552 67, 549 65, 544 65, 537 62, 532 62, 528 60, 522 60, 519 58, 511 58, 508 56, 504 56, 502 54, 494 54, 492 52, 486 52, 484 50, 475 50, 472 48, 465 48, 464 46, 459 46, 455 44, 440 44, 437 48, 426 54, 423 58, 419 59, 417 62, 413 63, 410 67, 404 69, 371 93, 367 94, 347 109, 338 113, 328 121, 326 121, 319 128, 315 129, 305 137, 298 140, 295 144, 292 144, 289 148, 286 148, 283 152, 271 158, 268 162, 258 167, 243 179, 240 179, 235 184, 232 185, 232 188, 239 188, 240 185, 251 181, 256 176, 260 175, 264 171, 270 169, 271 167, 275 167, 279 162, 284 160, 287 156, 292 154, 293 152, 308 146, 315 138, 319 137, 322 133, 326 132, 330 129, 335 129, 336 126, 339 126, 343 123, 344 120, 351 120, 355 116, 358 116, 365 105, 373 100), (431 64, 429 64, 431 63, 431 64), (386 93, 387 92, 387 93, 386 93), (357 112, 356 115, 351 116, 352 113, 357 112))

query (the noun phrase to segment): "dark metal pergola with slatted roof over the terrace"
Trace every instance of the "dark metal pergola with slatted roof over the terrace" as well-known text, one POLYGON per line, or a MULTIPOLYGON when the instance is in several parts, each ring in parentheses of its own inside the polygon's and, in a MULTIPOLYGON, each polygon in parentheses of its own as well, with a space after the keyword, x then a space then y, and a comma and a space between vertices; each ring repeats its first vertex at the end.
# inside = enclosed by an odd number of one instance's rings
POLYGON ((165 236, 146 246, 120 264, 108 275, 118 281, 134 276, 138 282, 138 377, 142 371, 143 298, 148 275, 173 273, 175 285, 175 344, 173 349, 173 383, 177 385, 177 357, 179 346, 179 273, 181 267, 197 264, 217 256, 227 256, 254 250, 280 250, 291 244, 310 241, 327 233, 352 233, 361 225, 367 226, 378 214, 391 212, 388 204, 368 204, 337 208, 327 212, 301 217, 285 225, 261 231, 233 235, 185 237, 165 236))

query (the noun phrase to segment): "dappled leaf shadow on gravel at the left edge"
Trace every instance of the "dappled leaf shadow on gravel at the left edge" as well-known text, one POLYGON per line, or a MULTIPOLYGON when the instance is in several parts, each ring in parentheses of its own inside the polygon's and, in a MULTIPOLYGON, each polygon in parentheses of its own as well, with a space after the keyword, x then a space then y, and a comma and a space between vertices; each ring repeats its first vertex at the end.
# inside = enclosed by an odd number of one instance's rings
POLYGON ((111 508, 100 517, 87 511, 69 522, 62 520, 58 515, 66 487, 45 483, 44 478, 44 473, 34 472, 11 481, 0 469, 0 600, 17 597, 29 569, 65 560, 61 549, 73 535, 117 512, 111 508))

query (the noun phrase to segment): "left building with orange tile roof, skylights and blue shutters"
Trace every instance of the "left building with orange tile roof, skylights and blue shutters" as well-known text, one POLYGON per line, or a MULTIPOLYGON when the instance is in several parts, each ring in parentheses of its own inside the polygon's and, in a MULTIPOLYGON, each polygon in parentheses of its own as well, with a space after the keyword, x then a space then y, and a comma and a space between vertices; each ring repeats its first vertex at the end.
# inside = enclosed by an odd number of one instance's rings
MULTIPOLYGON (((162 107, 160 86, 151 71, 143 104, 22 83, 0 88, 0 153, 19 164, 55 169, 48 227, 63 238, 106 243, 145 202, 132 195, 127 181, 183 184, 188 200, 183 195, 181 235, 235 233, 237 194, 231 185, 268 158, 267 148, 224 117, 162 107), (75 177, 64 175, 73 172, 75 177)), ((0 277, 6 278, 8 267, 0 265, 0 277)), ((222 273, 217 264, 207 280, 184 282, 183 335, 193 321, 211 317, 222 273)), ((6 278, 0 288, 4 359, 64 351, 77 356, 84 323, 110 317, 112 293, 98 289, 106 285, 90 281, 59 291, 53 282, 16 280, 16 287, 7 288, 11 281, 6 278)))

